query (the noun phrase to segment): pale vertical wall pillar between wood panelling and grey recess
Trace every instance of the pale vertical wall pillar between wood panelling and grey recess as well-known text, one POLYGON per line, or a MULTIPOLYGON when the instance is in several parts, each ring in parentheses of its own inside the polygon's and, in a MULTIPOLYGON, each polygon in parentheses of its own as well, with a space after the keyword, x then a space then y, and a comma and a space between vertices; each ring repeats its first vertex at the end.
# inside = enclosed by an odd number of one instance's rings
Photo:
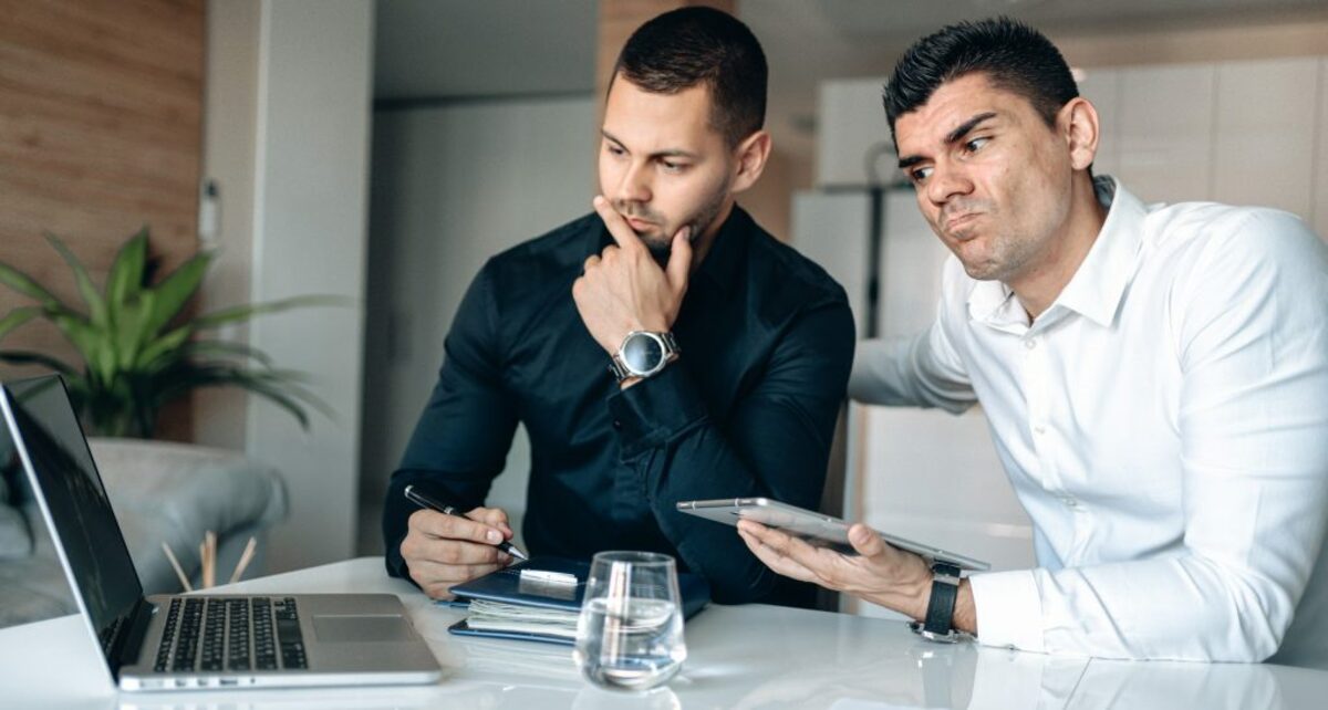
POLYGON ((259 319, 251 342, 312 377, 336 411, 308 433, 250 398, 246 451, 280 468, 291 519, 270 537, 270 568, 349 557, 355 545, 373 4, 264 0, 251 299, 305 293, 355 305, 259 319))

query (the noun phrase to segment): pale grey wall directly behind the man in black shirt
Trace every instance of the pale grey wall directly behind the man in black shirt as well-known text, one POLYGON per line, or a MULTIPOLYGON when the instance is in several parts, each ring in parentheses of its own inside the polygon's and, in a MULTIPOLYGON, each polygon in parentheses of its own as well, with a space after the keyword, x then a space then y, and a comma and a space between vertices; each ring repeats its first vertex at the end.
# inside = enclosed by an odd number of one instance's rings
MULTIPOLYGON (((381 553, 386 482, 437 381, 442 341, 485 260, 590 211, 595 102, 499 100, 374 115, 360 552, 381 553)), ((519 516, 517 433, 489 504, 519 516)))

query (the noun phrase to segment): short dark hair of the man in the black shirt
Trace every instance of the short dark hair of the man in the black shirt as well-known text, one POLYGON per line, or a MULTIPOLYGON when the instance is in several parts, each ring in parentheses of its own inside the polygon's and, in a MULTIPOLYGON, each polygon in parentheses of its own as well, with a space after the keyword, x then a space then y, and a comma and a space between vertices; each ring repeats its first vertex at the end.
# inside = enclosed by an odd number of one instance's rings
POLYGON ((657 94, 704 82, 710 89, 710 125, 730 147, 765 125, 765 52, 726 12, 688 7, 649 20, 623 46, 618 74, 657 94))

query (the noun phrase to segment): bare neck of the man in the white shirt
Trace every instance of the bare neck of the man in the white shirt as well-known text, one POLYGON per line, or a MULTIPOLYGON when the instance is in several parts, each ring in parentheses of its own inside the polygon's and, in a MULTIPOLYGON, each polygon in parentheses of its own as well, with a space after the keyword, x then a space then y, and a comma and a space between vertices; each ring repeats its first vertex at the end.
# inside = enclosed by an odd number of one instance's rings
POLYGON ((1065 222, 1064 236, 1052 244, 1052 251, 1044 255, 1038 265, 1007 283, 1029 321, 1037 320, 1056 303, 1084 264, 1106 222, 1106 208, 1097 200, 1093 180, 1088 175, 1082 180, 1074 180, 1070 199, 1074 207, 1065 222))

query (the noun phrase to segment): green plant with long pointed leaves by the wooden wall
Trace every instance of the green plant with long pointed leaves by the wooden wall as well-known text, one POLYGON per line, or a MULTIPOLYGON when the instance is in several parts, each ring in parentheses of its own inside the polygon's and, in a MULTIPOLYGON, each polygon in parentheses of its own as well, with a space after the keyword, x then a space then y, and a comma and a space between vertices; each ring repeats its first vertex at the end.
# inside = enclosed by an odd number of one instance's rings
POLYGON ((44 319, 69 340, 82 362, 74 366, 45 353, 7 349, 0 349, 0 361, 61 373, 92 433, 151 438, 162 406, 198 388, 243 388, 286 409, 305 429, 305 406, 329 411, 300 385, 299 373, 275 369, 263 352, 220 340, 214 330, 263 313, 339 300, 300 296, 194 316, 185 307, 203 283, 211 252, 198 252, 151 285, 143 227, 121 247, 98 291, 64 242, 54 235, 46 235, 46 240, 73 271, 84 308, 65 304, 31 276, 0 261, 0 284, 36 301, 0 316, 0 341, 16 328, 44 319))

